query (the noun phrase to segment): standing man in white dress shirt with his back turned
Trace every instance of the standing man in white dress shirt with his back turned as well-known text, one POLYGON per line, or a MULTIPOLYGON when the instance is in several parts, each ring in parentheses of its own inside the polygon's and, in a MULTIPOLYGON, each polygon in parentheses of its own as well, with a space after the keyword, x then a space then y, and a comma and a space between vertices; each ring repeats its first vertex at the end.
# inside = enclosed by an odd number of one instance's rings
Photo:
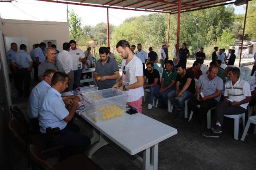
POLYGON ((71 91, 74 84, 74 71, 73 69, 73 59, 70 55, 70 43, 63 43, 63 51, 58 55, 58 61, 62 65, 65 73, 68 74, 68 88, 67 91, 71 91))

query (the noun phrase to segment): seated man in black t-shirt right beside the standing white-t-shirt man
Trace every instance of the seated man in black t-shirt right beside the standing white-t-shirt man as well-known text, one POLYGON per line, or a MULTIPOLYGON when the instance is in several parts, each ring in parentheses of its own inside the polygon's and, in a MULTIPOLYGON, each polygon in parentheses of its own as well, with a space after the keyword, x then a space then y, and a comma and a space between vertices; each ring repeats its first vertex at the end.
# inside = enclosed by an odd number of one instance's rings
MULTIPOLYGON (((160 75, 158 70, 154 69, 154 64, 152 62, 148 62, 146 64, 147 68, 144 70, 144 89, 150 89, 150 98, 148 109, 152 109, 153 100, 154 100, 154 91, 160 86, 160 75), (148 79, 148 82, 146 80, 148 79)), ((145 97, 145 96, 144 96, 145 97)))

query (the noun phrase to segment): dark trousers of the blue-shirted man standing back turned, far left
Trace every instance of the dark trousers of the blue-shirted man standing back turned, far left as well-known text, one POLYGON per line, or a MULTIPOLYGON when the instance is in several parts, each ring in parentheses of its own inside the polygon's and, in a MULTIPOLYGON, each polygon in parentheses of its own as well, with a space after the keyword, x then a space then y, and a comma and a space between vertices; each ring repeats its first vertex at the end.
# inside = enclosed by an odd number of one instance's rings
POLYGON ((25 94, 25 97, 28 97, 30 94, 30 83, 31 83, 30 72, 26 68, 19 69, 16 67, 15 74, 16 74, 19 96, 25 94))

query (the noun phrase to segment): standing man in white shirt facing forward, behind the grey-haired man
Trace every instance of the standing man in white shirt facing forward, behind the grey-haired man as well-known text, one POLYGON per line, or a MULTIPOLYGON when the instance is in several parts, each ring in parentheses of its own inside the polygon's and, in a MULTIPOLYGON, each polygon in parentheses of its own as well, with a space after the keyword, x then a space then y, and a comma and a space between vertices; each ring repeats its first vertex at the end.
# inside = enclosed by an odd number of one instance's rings
POLYGON ((71 40, 70 43, 70 55, 73 58, 73 71, 74 71, 74 83, 75 88, 78 88, 81 86, 80 80, 83 72, 83 64, 81 62, 81 59, 85 58, 84 51, 76 47, 76 41, 71 40))

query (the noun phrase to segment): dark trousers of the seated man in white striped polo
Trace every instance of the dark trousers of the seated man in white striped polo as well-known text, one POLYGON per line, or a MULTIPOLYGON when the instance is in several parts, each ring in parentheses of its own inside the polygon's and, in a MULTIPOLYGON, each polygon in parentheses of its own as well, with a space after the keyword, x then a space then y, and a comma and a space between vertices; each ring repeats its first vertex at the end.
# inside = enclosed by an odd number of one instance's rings
POLYGON ((215 121, 221 122, 224 115, 239 115, 245 113, 247 109, 241 106, 231 106, 226 102, 219 102, 215 109, 215 121))

